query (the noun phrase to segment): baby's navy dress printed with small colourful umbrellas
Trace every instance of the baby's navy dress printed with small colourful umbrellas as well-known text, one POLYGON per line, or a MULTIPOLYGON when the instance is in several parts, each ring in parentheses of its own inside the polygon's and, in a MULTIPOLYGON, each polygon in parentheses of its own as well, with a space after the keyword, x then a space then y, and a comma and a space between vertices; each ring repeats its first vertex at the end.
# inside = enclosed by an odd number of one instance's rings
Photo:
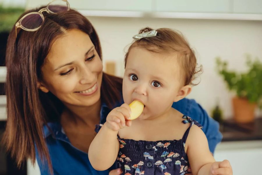
POLYGON ((183 123, 190 123, 180 140, 136 141, 118 136, 120 149, 117 157, 122 175, 184 175, 191 172, 185 153, 185 142, 193 125, 202 126, 184 115, 183 123))

